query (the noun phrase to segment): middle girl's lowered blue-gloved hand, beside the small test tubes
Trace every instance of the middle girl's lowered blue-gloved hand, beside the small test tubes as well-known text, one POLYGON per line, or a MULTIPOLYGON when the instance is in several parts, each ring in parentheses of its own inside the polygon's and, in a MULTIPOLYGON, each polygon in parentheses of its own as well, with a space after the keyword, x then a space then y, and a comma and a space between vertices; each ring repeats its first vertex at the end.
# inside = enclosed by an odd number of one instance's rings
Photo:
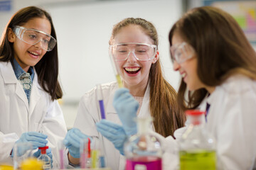
MULTIPOLYGON (((78 128, 73 128, 68 130, 63 143, 65 147, 68 148, 68 151, 72 157, 80 158, 80 141, 87 138, 88 136, 83 134, 78 128)), ((89 138, 90 142, 92 142, 92 138, 89 138)))

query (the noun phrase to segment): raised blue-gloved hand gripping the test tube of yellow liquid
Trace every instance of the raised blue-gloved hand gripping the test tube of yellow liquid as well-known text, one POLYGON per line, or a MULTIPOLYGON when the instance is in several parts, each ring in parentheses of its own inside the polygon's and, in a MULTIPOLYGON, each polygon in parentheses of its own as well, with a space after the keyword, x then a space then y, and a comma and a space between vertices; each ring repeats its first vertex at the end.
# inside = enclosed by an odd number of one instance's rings
POLYGON ((131 94, 129 94, 128 89, 122 88, 115 92, 113 106, 117 111, 126 134, 136 134, 137 123, 134 121, 134 119, 137 118, 139 103, 133 98, 131 94))

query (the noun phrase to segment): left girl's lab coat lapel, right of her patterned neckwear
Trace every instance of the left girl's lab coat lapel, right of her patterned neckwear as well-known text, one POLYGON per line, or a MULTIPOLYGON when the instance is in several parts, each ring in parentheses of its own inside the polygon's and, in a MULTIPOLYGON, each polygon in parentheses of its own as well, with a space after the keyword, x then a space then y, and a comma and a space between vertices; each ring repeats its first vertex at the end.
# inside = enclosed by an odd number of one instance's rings
MULTIPOLYGON (((36 70, 36 69, 34 69, 34 70, 36 70)), ((29 118, 31 117, 33 110, 36 107, 36 104, 38 103, 39 99, 41 98, 40 90, 41 90, 41 86, 38 84, 38 76, 35 71, 35 76, 33 78, 31 96, 30 96, 30 101, 29 101, 29 113, 28 113, 29 118)))

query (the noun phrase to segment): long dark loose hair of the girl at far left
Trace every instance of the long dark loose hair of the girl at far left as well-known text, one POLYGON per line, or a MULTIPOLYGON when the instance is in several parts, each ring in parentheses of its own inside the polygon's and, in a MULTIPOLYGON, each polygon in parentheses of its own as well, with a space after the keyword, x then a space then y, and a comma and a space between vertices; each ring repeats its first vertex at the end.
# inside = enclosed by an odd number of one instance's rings
MULTIPOLYGON (((53 38, 56 38, 55 29, 53 27, 53 21, 50 14, 41 8, 36 6, 28 6, 17 11, 14 16, 11 17, 9 23, 7 23, 5 31, 1 37, 0 44, 0 61, 11 62, 14 60, 14 48, 13 43, 8 40, 8 31, 14 26, 22 26, 32 18, 46 17, 50 21, 51 33, 53 38)), ((36 73, 38 74, 38 82, 43 89, 50 94, 51 99, 61 98, 63 92, 58 82, 58 49, 57 44, 50 52, 46 52, 46 55, 36 64, 36 73)))

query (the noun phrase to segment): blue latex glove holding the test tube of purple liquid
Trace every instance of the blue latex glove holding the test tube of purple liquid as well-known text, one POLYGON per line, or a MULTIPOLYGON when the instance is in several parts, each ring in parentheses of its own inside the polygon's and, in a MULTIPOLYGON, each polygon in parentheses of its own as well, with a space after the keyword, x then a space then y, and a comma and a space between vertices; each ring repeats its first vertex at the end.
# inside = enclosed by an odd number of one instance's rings
POLYGON ((127 140, 127 135, 121 125, 117 125, 108 120, 102 119, 96 123, 97 130, 119 150, 120 154, 124 155, 124 142, 127 140))

